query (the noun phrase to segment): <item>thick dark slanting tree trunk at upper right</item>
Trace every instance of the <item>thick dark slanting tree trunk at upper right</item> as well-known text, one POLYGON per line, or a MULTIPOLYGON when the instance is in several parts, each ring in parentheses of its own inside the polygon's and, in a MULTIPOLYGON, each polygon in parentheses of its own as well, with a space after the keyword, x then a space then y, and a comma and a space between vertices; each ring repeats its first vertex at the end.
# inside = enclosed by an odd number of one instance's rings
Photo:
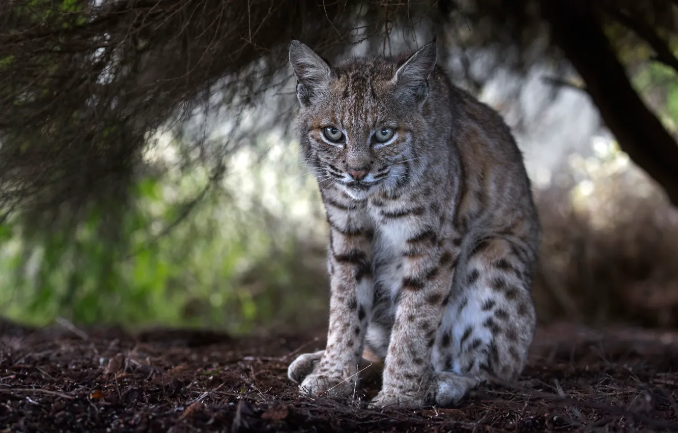
POLYGON ((631 87, 603 33, 591 0, 542 0, 554 42, 586 83, 621 149, 657 181, 678 206, 678 145, 631 87))

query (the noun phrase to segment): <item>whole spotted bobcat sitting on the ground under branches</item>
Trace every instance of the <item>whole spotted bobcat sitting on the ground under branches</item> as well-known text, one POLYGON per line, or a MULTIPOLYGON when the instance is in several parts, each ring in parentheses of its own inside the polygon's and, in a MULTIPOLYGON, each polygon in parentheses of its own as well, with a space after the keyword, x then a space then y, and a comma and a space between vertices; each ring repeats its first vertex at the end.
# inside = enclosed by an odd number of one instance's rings
POLYGON ((330 225, 325 350, 287 371, 350 395, 370 352, 374 407, 450 407, 515 379, 532 343, 540 225, 502 117, 452 85, 435 39, 410 56, 331 66, 292 41, 300 156, 330 225))

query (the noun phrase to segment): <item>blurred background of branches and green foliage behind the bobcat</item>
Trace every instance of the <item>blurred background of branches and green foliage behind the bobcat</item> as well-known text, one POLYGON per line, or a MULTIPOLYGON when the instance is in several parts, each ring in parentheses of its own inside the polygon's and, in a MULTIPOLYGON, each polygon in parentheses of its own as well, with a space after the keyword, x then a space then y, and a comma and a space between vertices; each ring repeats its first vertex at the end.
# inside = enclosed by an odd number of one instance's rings
POLYGON ((293 37, 332 61, 437 35, 498 110, 543 225, 540 322, 678 326, 678 2, 14 0, 0 5, 0 315, 326 326, 293 37))

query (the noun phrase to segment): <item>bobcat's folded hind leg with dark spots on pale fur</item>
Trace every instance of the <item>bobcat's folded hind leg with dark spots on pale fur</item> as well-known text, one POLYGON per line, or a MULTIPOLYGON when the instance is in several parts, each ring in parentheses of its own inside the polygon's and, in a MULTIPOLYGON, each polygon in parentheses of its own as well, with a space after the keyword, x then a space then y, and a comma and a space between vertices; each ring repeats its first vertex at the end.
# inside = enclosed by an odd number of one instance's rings
POLYGON ((532 256, 521 250, 504 239, 484 240, 460 267, 431 356, 429 404, 449 407, 491 377, 511 380, 522 372, 536 318, 532 256))

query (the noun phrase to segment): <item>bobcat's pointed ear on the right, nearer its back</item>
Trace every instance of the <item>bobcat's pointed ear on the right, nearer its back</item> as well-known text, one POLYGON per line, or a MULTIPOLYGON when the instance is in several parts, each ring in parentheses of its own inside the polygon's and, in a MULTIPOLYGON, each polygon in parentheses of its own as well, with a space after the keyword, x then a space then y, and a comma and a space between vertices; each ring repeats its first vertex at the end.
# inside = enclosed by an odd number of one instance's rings
POLYGON ((404 95, 414 96, 421 105, 428 96, 428 77, 433 73, 437 60, 435 38, 417 50, 405 64, 396 71, 393 82, 404 95))

